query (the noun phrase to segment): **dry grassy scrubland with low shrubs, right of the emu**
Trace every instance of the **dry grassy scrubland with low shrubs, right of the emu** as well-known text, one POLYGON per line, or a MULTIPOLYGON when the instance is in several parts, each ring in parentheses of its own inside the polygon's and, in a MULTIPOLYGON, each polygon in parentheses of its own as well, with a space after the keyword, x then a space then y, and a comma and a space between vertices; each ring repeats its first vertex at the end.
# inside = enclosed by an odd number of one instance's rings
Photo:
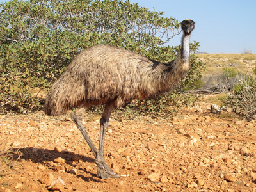
POLYGON ((214 87, 221 93, 210 102, 226 104, 246 118, 256 115, 256 54, 200 54, 198 60, 207 67, 201 89, 214 87))

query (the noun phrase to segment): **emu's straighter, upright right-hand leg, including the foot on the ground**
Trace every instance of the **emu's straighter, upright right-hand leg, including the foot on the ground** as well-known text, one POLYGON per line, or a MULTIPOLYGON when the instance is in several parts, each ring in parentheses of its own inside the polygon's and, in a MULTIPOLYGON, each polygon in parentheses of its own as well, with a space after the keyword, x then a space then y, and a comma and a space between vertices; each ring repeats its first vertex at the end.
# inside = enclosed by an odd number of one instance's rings
POLYGON ((100 142, 99 142, 99 152, 95 158, 97 164, 97 176, 104 179, 104 178, 119 178, 120 176, 115 174, 106 164, 103 154, 104 154, 104 141, 106 131, 109 125, 109 117, 111 112, 114 108, 114 103, 106 104, 106 108, 102 114, 102 118, 100 119, 100 142))

